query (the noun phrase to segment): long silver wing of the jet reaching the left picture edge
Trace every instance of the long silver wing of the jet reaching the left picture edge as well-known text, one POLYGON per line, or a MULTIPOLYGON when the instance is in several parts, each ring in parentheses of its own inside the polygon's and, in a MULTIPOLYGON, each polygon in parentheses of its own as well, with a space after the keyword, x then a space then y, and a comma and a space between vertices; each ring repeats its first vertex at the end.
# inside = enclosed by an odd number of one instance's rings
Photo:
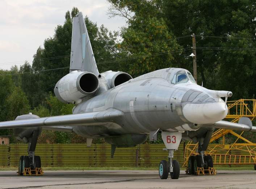
MULTIPOLYGON (((0 122, 0 129, 29 128, 29 127, 51 127, 51 126, 97 126, 112 123, 115 119, 122 117, 123 112, 116 109, 97 111, 92 113, 60 115, 38 119, 24 119, 0 122)), ((55 127, 61 129, 62 127, 55 127)), ((47 128, 46 128, 47 129, 47 128)), ((63 128, 64 129, 64 128, 63 128)))

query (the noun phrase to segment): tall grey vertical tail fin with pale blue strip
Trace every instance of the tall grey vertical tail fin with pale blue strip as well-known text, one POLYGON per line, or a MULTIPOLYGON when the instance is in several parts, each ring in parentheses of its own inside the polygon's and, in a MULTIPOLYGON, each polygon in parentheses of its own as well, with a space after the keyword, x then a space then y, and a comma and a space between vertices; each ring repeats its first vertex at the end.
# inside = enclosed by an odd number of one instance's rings
POLYGON ((74 70, 99 75, 82 12, 73 18, 70 72, 74 70))

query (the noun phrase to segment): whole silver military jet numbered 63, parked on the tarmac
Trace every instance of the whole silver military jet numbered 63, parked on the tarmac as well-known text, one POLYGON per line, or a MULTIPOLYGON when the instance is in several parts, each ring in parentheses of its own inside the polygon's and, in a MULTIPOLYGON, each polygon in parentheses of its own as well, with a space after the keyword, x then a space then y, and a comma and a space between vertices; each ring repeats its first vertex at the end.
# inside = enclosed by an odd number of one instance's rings
POLYGON ((159 164, 159 176, 172 179, 180 175, 179 162, 173 160, 181 139, 198 142, 200 155, 189 158, 189 172, 197 167, 213 167, 211 156, 204 154, 215 128, 256 132, 251 120, 239 123, 223 121, 230 91, 213 91, 197 85, 185 69, 166 68, 132 78, 122 71, 99 73, 83 14, 73 18, 70 73, 54 88, 63 103, 74 103, 73 114, 39 118, 31 113, 14 121, 0 122, 0 128, 12 128, 14 136, 28 143, 28 155, 20 157, 19 173, 25 168, 41 167, 35 146, 42 129, 74 132, 92 139, 104 138, 116 147, 142 144, 148 135, 156 140, 161 133, 168 150, 168 162, 159 164))

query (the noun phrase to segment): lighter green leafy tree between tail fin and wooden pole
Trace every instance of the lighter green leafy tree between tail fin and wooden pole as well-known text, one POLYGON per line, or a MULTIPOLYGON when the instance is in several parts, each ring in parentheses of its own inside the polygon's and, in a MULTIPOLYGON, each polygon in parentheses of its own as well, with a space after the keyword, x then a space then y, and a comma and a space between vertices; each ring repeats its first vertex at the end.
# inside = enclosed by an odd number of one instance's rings
POLYGON ((181 53, 172 32, 160 18, 136 17, 128 28, 123 28, 120 52, 126 57, 122 70, 133 76, 172 67, 173 53, 181 53), (160 41, 160 42, 159 42, 160 41))

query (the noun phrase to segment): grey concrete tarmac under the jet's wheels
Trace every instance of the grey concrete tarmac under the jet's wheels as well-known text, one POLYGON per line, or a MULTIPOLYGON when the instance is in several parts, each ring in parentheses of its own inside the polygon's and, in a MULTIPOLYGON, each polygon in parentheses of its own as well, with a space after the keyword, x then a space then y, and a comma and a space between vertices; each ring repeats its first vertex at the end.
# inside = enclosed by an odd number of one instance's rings
POLYGON ((17 176, 0 171, 0 188, 256 188, 256 171, 218 171, 217 175, 185 175, 161 180, 158 171, 45 171, 43 176, 17 176))

